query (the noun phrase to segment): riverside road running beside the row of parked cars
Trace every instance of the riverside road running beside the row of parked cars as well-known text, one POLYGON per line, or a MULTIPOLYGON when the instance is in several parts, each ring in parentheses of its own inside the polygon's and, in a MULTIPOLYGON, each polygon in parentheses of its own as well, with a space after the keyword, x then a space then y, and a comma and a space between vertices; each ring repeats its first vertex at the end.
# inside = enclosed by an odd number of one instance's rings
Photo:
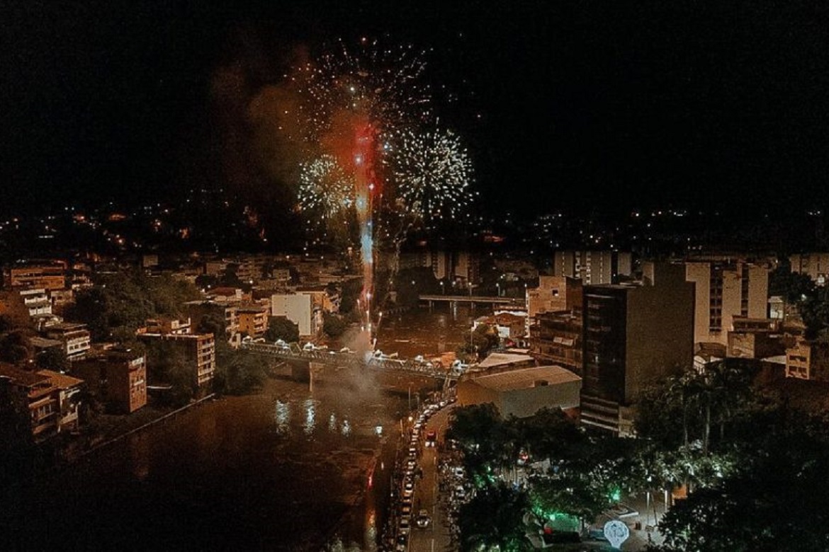
MULTIPOLYGON (((438 410, 426 422, 426 428, 421 431, 421 444, 424 434, 429 431, 436 431, 438 442, 444 442, 444 431, 446 430, 449 411, 452 405, 438 410)), ((449 529, 445 512, 440 507, 440 495, 438 487, 438 458, 439 451, 435 447, 420 447, 418 464, 423 469, 423 477, 419 479, 414 487, 414 513, 419 509, 429 511, 432 522, 426 529, 412 528, 409 539, 410 552, 448 552, 456 550, 450 544, 449 529)))

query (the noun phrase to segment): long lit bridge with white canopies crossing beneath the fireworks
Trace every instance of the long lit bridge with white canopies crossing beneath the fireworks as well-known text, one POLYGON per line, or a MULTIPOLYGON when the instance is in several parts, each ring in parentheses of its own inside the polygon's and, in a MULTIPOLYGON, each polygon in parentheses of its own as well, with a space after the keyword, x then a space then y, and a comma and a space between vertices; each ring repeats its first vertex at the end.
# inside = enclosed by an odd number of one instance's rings
POLYGON ((298 343, 242 343, 241 348, 250 353, 268 355, 286 361, 304 361, 328 366, 368 367, 380 371, 396 371, 434 377, 441 380, 457 380, 466 372, 467 364, 455 361, 451 367, 420 358, 395 358, 378 352, 356 353, 353 351, 329 351, 322 348, 302 348, 298 343))

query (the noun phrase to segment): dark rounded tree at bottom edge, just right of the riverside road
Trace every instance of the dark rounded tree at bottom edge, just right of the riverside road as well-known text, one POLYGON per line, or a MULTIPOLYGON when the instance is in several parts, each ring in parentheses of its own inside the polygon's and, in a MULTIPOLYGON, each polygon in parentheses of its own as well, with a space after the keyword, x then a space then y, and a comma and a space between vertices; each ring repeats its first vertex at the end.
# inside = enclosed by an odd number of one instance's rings
POLYGON ((461 550, 531 550, 522 519, 529 509, 526 492, 504 483, 485 487, 458 511, 461 550))

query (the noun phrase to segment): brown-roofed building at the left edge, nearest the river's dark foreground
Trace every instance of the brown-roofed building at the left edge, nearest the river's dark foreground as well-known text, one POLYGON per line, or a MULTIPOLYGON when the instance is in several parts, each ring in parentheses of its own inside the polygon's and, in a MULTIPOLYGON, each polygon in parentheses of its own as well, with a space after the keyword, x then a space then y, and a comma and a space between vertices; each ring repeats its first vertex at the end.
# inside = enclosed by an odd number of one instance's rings
POLYGON ((50 370, 27 372, 9 364, 0 364, 0 378, 26 405, 36 441, 78 429, 82 380, 50 370))

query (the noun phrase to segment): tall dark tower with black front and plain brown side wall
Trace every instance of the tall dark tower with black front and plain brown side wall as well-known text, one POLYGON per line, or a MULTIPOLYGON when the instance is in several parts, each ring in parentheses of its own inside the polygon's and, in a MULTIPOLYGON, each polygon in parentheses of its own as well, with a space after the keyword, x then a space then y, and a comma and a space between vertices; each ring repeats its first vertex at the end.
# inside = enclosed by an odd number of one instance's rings
POLYGON ((645 263, 642 281, 584 286, 581 421, 631 434, 632 406, 694 358, 694 286, 680 265, 645 263))

